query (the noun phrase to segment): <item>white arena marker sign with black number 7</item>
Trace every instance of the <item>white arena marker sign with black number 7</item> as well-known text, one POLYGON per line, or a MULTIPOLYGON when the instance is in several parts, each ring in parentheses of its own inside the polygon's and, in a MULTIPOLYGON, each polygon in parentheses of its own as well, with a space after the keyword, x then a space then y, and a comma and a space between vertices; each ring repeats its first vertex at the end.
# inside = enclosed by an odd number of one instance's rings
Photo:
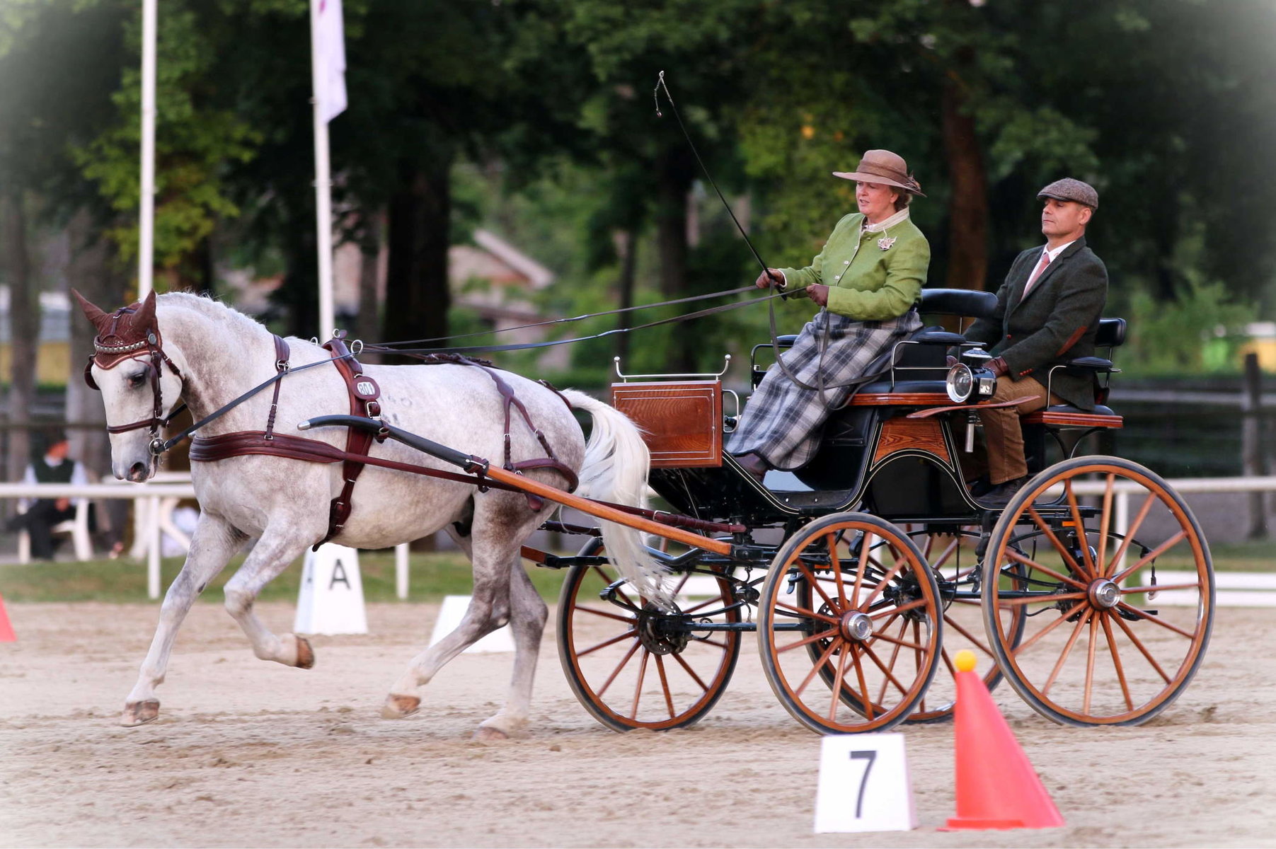
POLYGON ((916 827, 903 734, 833 734, 820 742, 817 832, 916 827))

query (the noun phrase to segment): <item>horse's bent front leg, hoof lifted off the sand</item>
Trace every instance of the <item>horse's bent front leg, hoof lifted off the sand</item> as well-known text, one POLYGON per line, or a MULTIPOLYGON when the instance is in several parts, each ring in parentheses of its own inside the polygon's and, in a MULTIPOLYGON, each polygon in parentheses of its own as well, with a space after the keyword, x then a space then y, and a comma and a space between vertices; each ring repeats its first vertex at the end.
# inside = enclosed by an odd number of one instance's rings
POLYGON ((314 529, 300 525, 295 516, 272 521, 235 576, 226 581, 226 609, 253 642, 253 654, 286 667, 309 669, 315 664, 310 641, 295 634, 276 635, 253 612, 253 603, 292 561, 305 553, 315 539, 314 529))

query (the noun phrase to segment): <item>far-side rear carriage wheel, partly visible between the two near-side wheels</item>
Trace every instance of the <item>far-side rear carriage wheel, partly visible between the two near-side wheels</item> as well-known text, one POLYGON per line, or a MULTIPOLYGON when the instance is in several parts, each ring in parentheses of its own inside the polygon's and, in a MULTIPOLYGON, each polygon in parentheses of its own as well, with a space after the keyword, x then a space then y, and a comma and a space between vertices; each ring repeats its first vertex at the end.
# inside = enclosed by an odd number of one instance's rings
MULTIPOLYGON (((979 584, 979 560, 975 546, 980 535, 971 530, 957 530, 952 534, 933 534, 926 530, 910 532, 909 537, 921 549, 939 584, 939 597, 944 604, 944 642, 939 648, 939 669, 934 681, 926 688, 921 701, 905 722, 938 723, 947 722, 953 715, 957 702, 957 667, 953 658, 962 649, 968 649, 979 658, 977 669, 986 669, 984 685, 993 690, 1002 682, 1002 668, 984 634, 981 604, 972 598, 954 598, 953 590, 974 593, 979 584)), ((1016 563, 1013 571, 1021 572, 1016 563)), ((1026 623, 1022 606, 1003 608, 999 613, 1000 628, 1007 645, 1018 645, 1026 623)))

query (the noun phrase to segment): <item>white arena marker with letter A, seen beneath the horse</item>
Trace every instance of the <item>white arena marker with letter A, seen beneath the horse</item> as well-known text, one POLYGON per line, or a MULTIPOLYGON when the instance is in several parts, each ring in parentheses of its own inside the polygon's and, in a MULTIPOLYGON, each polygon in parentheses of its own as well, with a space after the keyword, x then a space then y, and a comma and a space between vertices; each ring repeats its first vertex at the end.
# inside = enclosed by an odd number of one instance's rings
POLYGON ((367 634, 359 552, 324 543, 306 549, 295 634, 367 634))

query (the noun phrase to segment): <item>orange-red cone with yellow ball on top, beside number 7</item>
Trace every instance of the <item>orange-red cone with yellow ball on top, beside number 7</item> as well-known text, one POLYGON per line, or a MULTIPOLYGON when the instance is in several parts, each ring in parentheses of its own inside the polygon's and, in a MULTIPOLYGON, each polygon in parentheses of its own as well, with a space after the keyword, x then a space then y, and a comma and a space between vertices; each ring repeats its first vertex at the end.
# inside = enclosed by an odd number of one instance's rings
POLYGON ((984 679, 975 653, 957 664, 957 816, 944 831, 961 829, 1053 829, 1064 825, 984 679))

